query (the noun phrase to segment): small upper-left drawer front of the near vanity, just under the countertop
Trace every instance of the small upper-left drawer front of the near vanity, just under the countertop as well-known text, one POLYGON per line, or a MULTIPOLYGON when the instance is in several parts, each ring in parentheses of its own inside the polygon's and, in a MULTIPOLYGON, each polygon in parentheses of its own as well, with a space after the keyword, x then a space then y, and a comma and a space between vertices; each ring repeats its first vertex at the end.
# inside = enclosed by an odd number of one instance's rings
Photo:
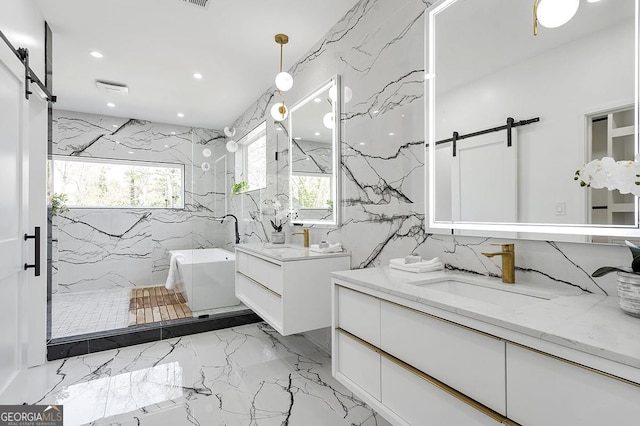
POLYGON ((380 300, 345 287, 337 289, 336 327, 380 347, 380 300))

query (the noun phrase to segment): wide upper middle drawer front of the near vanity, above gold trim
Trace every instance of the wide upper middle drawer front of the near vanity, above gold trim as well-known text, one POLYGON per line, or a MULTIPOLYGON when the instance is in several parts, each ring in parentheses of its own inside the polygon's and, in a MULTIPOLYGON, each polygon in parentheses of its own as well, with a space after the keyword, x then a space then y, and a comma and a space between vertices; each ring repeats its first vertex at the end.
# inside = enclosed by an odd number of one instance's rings
POLYGON ((380 340, 385 352, 505 414, 504 341, 385 301, 380 340))

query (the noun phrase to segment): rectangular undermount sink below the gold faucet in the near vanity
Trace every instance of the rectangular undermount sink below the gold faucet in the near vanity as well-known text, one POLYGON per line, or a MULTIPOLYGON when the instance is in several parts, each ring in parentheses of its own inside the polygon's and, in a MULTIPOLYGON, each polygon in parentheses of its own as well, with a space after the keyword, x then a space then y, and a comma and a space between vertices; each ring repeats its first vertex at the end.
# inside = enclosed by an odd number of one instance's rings
POLYGON ((434 283, 415 284, 422 285, 429 290, 440 291, 443 293, 466 297, 468 299, 473 299, 480 302, 490 303, 492 305, 507 308, 518 308, 532 303, 549 300, 551 298, 540 295, 534 296, 530 294, 517 293, 510 291, 511 289, 507 287, 505 287, 504 289, 496 287, 485 287, 483 285, 471 284, 462 281, 447 280, 434 283))

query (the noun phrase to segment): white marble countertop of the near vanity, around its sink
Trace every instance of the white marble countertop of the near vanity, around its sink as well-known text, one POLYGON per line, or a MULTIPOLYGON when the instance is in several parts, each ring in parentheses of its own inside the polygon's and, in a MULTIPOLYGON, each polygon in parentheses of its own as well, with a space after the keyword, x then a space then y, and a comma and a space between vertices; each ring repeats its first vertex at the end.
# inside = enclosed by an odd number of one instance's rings
MULTIPOLYGON (((640 318, 622 312, 616 297, 540 284, 503 284, 500 279, 448 271, 415 274, 388 267, 334 272, 363 287, 483 321, 507 330, 640 368, 640 318), (499 306, 429 289, 446 278, 541 299, 523 306, 499 306), (548 300, 545 300, 548 299, 548 300)), ((526 298, 525 298, 526 299, 526 298)))

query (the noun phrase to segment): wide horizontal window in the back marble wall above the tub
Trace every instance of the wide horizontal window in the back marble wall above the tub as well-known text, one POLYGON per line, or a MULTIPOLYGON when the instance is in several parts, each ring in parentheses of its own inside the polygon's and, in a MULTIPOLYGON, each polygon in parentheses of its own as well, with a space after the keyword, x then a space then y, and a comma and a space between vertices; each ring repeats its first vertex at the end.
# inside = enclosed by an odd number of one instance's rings
POLYGON ((69 207, 184 208, 182 164, 54 157, 52 172, 69 207))

